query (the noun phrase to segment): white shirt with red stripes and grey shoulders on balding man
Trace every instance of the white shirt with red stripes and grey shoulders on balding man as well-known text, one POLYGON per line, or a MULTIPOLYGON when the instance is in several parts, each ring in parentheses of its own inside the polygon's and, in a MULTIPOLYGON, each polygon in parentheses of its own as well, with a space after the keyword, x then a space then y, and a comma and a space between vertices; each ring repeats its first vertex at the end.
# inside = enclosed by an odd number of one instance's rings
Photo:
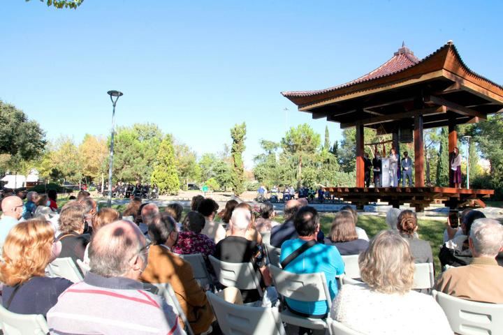
POLYGON ((50 334, 184 335, 178 315, 142 283, 88 272, 47 314, 50 334))

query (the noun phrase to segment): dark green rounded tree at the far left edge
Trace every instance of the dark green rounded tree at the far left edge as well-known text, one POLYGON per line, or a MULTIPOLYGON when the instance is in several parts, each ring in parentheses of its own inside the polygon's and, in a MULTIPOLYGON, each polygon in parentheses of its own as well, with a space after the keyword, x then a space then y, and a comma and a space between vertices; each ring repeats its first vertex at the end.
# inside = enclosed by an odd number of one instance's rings
POLYGON ((30 161, 43 154, 47 141, 38 122, 29 120, 22 110, 0 101, 0 154, 8 154, 12 170, 22 161, 30 161))

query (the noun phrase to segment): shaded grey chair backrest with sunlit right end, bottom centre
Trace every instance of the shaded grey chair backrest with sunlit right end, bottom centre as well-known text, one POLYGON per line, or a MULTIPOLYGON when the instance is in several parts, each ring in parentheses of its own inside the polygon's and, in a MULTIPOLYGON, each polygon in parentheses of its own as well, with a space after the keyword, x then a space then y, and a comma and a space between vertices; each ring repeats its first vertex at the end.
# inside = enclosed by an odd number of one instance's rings
POLYGON ((221 299, 212 292, 206 292, 206 295, 223 334, 286 334, 277 308, 236 305, 221 299))

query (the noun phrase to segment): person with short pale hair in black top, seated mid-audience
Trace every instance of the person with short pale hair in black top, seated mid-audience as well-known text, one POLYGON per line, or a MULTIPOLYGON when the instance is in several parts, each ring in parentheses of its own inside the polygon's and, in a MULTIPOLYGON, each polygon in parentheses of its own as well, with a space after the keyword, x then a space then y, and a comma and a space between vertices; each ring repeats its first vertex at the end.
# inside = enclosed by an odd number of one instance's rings
MULTIPOLYGON (((261 284, 270 286, 270 273, 261 247, 245 237, 250 222, 251 213, 247 208, 235 208, 231 217, 231 235, 217 243, 214 257, 224 262, 253 263, 261 273, 261 284)), ((241 294, 245 303, 260 299, 257 290, 241 290, 241 294)))

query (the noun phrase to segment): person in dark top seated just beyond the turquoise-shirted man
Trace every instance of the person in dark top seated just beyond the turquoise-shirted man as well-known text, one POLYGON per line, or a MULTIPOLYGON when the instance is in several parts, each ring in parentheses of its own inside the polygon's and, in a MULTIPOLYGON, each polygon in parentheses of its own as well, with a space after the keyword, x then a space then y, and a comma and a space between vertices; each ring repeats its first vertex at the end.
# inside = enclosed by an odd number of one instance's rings
MULTIPOLYGON (((270 236, 270 244, 271 246, 275 246, 276 248, 281 248, 284 241, 288 241, 289 239, 296 239, 298 237, 297 230, 295 225, 293 224, 293 217, 297 214, 297 211, 300 207, 307 204, 307 200, 305 198, 299 200, 289 200, 286 202, 284 206, 284 223, 282 225, 277 225, 272 228, 271 236, 270 236), (304 202, 305 201, 305 202, 304 202)), ((318 241, 323 243, 325 239, 325 235, 321 231, 318 232, 318 241)))

